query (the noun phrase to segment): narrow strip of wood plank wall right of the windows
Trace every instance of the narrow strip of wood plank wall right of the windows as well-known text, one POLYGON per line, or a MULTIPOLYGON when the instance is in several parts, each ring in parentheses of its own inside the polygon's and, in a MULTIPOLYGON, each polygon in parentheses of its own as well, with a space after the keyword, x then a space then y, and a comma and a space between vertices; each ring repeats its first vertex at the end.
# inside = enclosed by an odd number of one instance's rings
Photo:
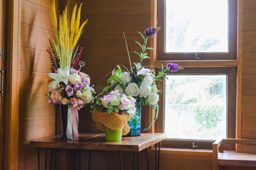
MULTIPOLYGON (((242 138, 256 139, 256 1, 243 0, 242 138)), ((255 145, 242 145, 242 152, 256 153, 255 145)))

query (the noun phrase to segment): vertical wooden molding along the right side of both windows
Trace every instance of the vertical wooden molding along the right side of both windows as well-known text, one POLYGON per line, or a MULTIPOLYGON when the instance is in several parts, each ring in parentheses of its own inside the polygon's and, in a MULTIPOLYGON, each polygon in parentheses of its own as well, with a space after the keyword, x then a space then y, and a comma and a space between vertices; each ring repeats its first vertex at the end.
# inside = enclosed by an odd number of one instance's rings
MULTIPOLYGON (((242 130, 242 55, 243 55, 243 0, 238 0, 237 9, 237 84, 236 84, 236 138, 241 138, 242 130)), ((241 152, 241 144, 236 144, 236 152, 241 152)))

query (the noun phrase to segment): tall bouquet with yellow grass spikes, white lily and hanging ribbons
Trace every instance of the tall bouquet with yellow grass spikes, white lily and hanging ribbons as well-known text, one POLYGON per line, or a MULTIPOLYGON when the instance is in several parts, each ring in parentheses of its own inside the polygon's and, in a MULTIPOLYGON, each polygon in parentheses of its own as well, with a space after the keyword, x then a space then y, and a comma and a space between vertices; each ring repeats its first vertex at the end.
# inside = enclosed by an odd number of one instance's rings
POLYGON ((73 54, 77 41, 83 32, 83 27, 87 22, 87 20, 84 21, 80 26, 81 5, 77 14, 75 5, 71 21, 67 17, 66 7, 62 15, 59 15, 58 24, 53 0, 51 17, 56 43, 54 39, 49 38, 50 47, 48 46, 48 49, 46 49, 52 66, 51 73, 48 74, 52 79, 50 79, 48 93, 46 94, 48 96, 47 102, 50 105, 54 103, 55 106, 62 104, 68 109, 68 124, 67 127, 64 127, 67 128, 67 131, 63 130, 67 132, 67 135, 63 135, 68 139, 78 139, 78 110, 83 108, 85 104, 93 102, 92 94, 95 94, 93 87, 90 86, 89 75, 80 71, 81 67, 85 65, 84 62, 79 61, 83 47, 80 48, 77 54, 79 48, 77 46, 73 54), (74 68, 77 64, 80 66, 79 69, 74 68))

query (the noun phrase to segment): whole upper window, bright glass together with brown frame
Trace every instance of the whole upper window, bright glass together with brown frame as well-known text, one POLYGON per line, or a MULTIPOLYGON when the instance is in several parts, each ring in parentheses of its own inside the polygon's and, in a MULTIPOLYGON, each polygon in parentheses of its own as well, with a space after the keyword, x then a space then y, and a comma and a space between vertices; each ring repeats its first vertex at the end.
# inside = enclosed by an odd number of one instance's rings
POLYGON ((237 0, 158 0, 157 60, 236 60, 237 0))

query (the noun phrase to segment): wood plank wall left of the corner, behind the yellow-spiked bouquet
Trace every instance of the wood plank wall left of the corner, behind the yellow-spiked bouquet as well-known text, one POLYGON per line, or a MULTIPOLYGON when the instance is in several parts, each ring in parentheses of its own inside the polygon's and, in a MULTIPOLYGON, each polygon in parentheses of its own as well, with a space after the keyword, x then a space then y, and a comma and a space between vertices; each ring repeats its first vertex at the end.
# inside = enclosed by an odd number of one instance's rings
MULTIPOLYGON (((47 98, 44 96, 48 90, 47 73, 50 71, 48 53, 45 52, 48 45, 45 27, 49 35, 54 37, 49 10, 51 3, 52 0, 21 0, 18 151, 20 170, 34 170, 38 166, 37 149, 31 148, 29 141, 55 134, 55 108, 46 103, 47 98)), ((55 3, 58 7, 58 0, 55 0, 55 3)), ((50 155, 50 152, 48 153, 50 155)), ((44 168, 43 150, 40 161, 41 168, 44 168)))

